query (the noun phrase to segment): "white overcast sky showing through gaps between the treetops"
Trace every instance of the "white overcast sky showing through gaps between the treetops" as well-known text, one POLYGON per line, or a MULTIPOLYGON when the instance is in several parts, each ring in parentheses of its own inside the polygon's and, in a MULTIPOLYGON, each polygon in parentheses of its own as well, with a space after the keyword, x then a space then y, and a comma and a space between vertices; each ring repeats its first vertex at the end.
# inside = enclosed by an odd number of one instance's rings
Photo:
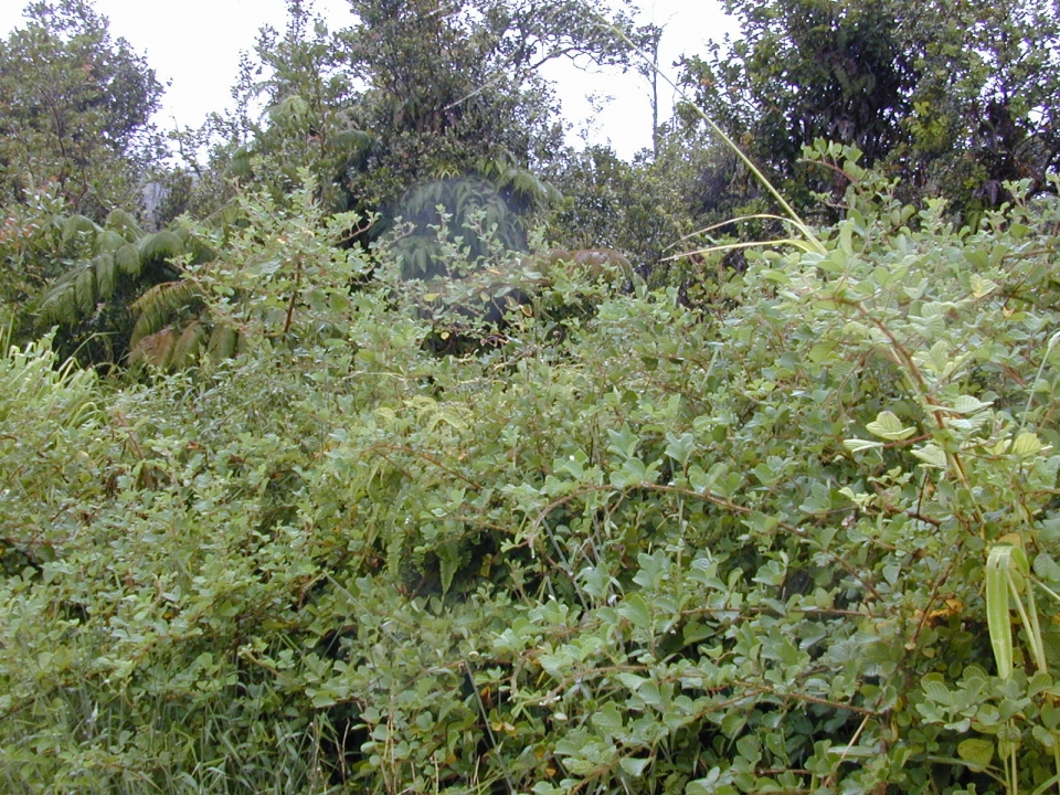
MULTIPOLYGON (((640 0, 642 22, 664 28, 660 65, 674 75, 670 64, 681 53, 706 52, 709 39, 720 40, 732 22, 717 0, 640 0)), ((23 0, 0 0, 3 35, 23 23, 23 0)), ((168 83, 165 107, 157 118, 163 128, 198 127, 205 115, 231 104, 240 52, 250 51, 264 24, 283 30, 284 0, 95 0, 96 10, 110 20, 113 38, 124 38, 147 56, 162 83, 168 83), (149 10, 147 10, 149 9, 149 10)), ((344 0, 316 0, 315 10, 332 29, 349 23, 344 0)), ((593 142, 608 140, 623 157, 632 157, 651 141, 649 85, 636 73, 585 73, 566 64, 550 64, 545 73, 555 80, 564 115, 572 125, 571 141, 587 131, 593 142), (595 119, 585 99, 590 94, 613 97, 595 119)), ((661 118, 669 116, 672 92, 661 87, 661 118)))

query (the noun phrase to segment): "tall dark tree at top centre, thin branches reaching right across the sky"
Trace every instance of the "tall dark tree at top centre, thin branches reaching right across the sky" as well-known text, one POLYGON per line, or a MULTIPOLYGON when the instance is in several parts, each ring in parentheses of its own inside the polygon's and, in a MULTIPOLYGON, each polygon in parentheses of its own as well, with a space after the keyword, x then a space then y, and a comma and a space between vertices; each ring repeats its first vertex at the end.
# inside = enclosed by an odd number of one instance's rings
MULTIPOLYGON (((591 0, 351 0, 343 31, 368 81, 359 114, 385 135, 371 159, 381 203, 484 161, 532 168, 562 127, 539 67, 556 57, 618 63, 626 50, 591 0), (385 134, 384 134, 385 131, 385 134)), ((614 24, 627 24, 617 15, 614 24)))

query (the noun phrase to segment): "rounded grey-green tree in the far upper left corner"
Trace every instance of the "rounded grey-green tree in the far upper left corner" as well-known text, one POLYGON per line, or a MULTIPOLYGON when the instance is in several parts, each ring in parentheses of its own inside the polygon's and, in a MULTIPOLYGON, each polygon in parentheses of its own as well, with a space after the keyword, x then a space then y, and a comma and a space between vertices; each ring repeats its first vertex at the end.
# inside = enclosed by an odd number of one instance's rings
POLYGON ((47 181, 94 221, 137 209, 160 139, 162 86, 88 0, 41 0, 0 42, 0 202, 47 181))

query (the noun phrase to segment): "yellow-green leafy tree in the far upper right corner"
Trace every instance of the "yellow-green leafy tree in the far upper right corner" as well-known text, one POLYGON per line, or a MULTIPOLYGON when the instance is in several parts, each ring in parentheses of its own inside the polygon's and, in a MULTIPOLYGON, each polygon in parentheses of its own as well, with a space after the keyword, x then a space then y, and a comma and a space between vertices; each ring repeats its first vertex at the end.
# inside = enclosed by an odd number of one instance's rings
POLYGON ((907 120, 914 183, 967 212, 1010 201, 1006 180, 1053 191, 1060 167, 1060 7, 1049 0, 913 7, 920 75, 907 120))

